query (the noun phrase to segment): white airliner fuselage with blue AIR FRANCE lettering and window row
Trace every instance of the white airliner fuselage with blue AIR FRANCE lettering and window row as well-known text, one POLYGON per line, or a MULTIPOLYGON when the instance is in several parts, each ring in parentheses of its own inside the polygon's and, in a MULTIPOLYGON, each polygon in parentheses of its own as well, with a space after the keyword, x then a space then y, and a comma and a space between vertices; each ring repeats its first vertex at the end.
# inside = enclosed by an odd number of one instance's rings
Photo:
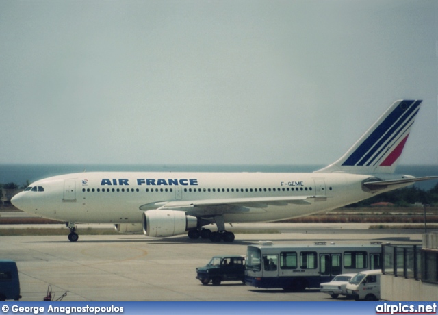
MULTIPOLYGON (((203 212, 196 212, 198 217, 208 217, 217 214, 221 200, 316 197, 306 203, 248 202, 237 210, 225 207, 221 212, 226 223, 263 222, 307 216, 372 197, 361 184, 370 177, 348 173, 75 173, 36 181, 31 184, 36 191, 17 194, 13 203, 30 214, 65 222, 140 223, 144 210, 172 201, 218 201, 211 210, 203 207, 203 212)), ((378 192, 402 186, 407 184, 378 192)), ((190 210, 183 211, 190 214, 190 210)))

